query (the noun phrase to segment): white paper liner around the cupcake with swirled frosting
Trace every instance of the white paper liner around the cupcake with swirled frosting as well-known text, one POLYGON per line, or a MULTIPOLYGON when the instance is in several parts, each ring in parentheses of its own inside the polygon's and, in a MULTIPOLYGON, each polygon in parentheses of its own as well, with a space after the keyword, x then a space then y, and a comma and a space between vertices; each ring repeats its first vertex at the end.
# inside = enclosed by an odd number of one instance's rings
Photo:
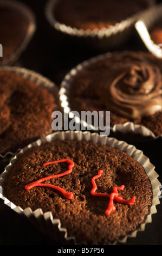
MULTIPOLYGON (((73 113, 73 111, 77 111, 77 109, 72 109, 72 106, 70 105, 70 89, 71 89, 71 83, 74 79, 74 77, 86 66, 91 65, 95 62, 98 62, 98 60, 102 60, 107 57, 111 57, 112 53, 105 53, 105 54, 100 54, 99 56, 92 57, 88 60, 85 60, 84 62, 80 63, 77 65, 75 68, 69 71, 69 73, 64 77, 61 85, 60 85, 60 104, 61 107, 63 108, 64 113, 69 115, 69 118, 75 119, 75 122, 78 124, 81 124, 82 127, 84 127, 84 130, 95 130, 95 127, 92 124, 88 124, 85 121, 82 121, 79 117, 76 117, 73 113)), ((111 113, 110 113, 111 114, 111 113)), ((110 130, 113 132, 122 132, 122 133, 128 133, 131 132, 133 134, 139 134, 144 137, 151 137, 153 139, 156 139, 160 136, 156 136, 151 130, 147 129, 144 125, 140 124, 134 124, 131 121, 128 121, 125 124, 115 124, 113 127, 110 127, 110 130)))

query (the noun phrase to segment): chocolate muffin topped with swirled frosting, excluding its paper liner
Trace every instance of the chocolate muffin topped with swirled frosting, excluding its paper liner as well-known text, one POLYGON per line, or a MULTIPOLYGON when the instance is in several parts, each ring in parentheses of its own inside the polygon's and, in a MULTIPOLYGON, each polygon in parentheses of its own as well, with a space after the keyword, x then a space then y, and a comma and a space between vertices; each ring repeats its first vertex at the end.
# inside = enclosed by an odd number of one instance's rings
POLYGON ((82 65, 70 78, 71 111, 110 111, 110 125, 128 121, 162 134, 162 62, 144 52, 114 52, 82 65))

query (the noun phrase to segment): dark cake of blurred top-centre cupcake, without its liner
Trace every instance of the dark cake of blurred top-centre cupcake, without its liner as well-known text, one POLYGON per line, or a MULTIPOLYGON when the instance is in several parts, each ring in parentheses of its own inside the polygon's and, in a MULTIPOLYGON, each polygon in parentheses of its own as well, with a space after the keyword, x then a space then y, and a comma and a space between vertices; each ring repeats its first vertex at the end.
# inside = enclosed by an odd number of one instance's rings
POLYGON ((57 21, 78 29, 102 29, 147 9, 153 1, 60 0, 54 10, 57 21))

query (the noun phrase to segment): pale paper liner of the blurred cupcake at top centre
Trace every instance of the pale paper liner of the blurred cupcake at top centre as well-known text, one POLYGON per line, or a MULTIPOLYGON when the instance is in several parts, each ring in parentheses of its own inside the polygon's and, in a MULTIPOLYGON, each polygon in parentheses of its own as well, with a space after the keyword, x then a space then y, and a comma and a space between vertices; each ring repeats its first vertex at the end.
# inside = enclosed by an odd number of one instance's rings
MULTIPOLYGON (((50 25, 57 31, 80 40, 82 39, 99 50, 110 50, 112 48, 116 48, 129 39, 134 31, 134 24, 137 21, 138 16, 142 13, 140 12, 128 17, 126 20, 116 23, 114 26, 109 26, 108 28, 84 30, 67 26, 55 19, 53 10, 58 1, 59 0, 49 0, 47 2, 45 13, 50 25)), ((150 2, 152 3, 154 1, 150 2)))

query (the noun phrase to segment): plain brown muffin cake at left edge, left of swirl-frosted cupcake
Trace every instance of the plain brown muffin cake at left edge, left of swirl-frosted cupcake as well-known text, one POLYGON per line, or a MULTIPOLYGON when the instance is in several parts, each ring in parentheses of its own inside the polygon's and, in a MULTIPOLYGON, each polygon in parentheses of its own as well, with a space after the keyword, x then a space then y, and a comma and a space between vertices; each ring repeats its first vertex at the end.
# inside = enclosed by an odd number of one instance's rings
POLYGON ((51 113, 59 109, 56 94, 12 71, 0 70, 0 155, 15 153, 51 133, 51 113))

